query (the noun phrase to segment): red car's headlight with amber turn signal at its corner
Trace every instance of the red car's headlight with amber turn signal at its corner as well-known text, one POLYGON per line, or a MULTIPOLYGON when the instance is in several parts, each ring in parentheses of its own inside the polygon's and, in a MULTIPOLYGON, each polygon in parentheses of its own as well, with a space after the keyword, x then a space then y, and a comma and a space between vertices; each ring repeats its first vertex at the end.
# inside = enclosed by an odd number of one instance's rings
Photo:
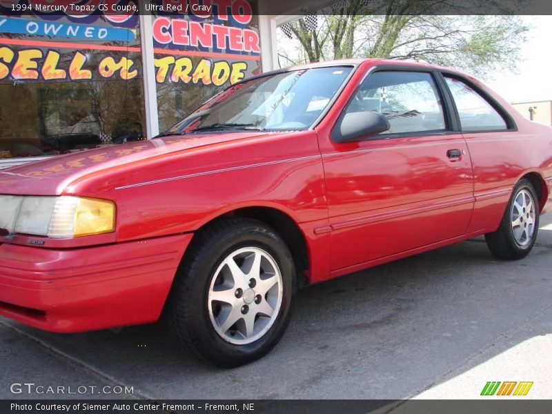
POLYGON ((57 239, 115 230, 115 204, 87 197, 0 195, 0 228, 57 239))

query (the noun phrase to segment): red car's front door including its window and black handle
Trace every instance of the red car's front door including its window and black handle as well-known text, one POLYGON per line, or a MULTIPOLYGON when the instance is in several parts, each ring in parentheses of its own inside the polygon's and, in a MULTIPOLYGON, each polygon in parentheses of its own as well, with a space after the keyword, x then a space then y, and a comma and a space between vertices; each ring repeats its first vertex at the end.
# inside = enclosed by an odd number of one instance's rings
POLYGON ((465 234, 471 161, 443 85, 429 69, 373 70, 344 110, 380 112, 391 129, 344 144, 319 137, 334 272, 465 234))

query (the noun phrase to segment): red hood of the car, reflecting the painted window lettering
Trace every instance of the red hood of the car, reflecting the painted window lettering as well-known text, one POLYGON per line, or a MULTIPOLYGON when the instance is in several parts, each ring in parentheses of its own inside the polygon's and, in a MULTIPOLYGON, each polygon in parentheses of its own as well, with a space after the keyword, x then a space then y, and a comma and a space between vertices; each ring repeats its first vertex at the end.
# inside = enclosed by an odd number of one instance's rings
POLYGON ((162 157, 191 148, 220 146, 230 141, 267 134, 268 132, 217 132, 171 135, 60 155, 0 170, 0 194, 60 195, 72 181, 107 168, 162 157))

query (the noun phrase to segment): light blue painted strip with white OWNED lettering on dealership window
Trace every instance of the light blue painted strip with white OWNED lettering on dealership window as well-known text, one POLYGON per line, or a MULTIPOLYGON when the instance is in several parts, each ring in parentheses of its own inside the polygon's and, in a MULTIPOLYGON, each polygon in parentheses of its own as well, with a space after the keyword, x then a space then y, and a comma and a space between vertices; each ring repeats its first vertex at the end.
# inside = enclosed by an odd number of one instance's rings
POLYGON ((92 39, 97 41, 133 41, 135 39, 134 32, 126 28, 17 19, 12 17, 0 17, 0 32, 92 39))

